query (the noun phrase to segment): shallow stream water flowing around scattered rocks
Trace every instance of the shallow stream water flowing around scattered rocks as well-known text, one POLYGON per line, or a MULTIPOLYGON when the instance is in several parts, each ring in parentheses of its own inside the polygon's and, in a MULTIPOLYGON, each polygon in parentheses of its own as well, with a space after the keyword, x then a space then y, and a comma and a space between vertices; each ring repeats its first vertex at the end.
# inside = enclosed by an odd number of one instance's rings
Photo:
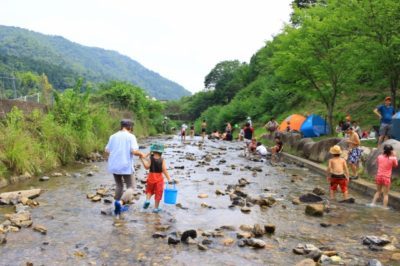
MULTIPOLYGON (((156 140, 148 139, 140 144, 148 147, 156 140)), ((198 139, 188 144, 182 144, 177 138, 161 141, 168 145, 164 158, 170 175, 179 181, 178 202, 188 209, 163 205, 163 212, 153 214, 151 207, 142 210, 144 196, 141 195, 124 219, 117 220, 100 213, 111 205, 86 198, 87 193, 95 192, 102 185, 113 186, 106 163, 68 169, 69 173, 80 172, 82 176, 53 177, 47 182, 30 181, 7 188, 8 191, 31 187, 45 190, 37 198, 40 206, 30 211, 34 225, 44 225, 48 232, 42 235, 31 228, 23 228, 8 233, 7 243, 0 245, 0 265, 25 265, 27 262, 34 265, 294 265, 305 258, 292 252, 299 243, 331 247, 339 252, 346 265, 365 265, 371 258, 385 265, 396 265, 390 258, 398 251, 370 251, 362 245, 361 238, 383 234, 399 238, 398 212, 368 208, 369 197, 350 191, 356 198, 355 204, 331 202, 332 210, 324 217, 310 217, 304 213, 305 205, 293 205, 292 198, 311 192, 316 186, 328 192, 328 184, 325 178, 308 169, 249 161, 240 156, 243 143, 238 142, 206 140, 204 145, 198 146, 198 139), (190 153, 196 160, 185 158, 190 153), (206 154, 213 157, 210 165, 199 165, 206 154), (220 162, 222 159, 226 162, 220 162), (233 169, 232 165, 236 167, 233 169), (184 169, 179 169, 181 166, 184 169), (253 174, 246 166, 260 166, 262 172, 253 174), (219 168, 219 171, 207 171, 210 167, 219 168), (97 170, 94 176, 86 176, 93 169, 97 170), (223 174, 224 171, 231 175, 223 174), (301 176, 303 180, 291 182, 292 175, 301 176), (248 214, 242 213, 240 207, 228 208, 231 205, 229 196, 218 196, 215 191, 224 191, 227 185, 237 184, 242 177, 250 181, 244 191, 254 196, 269 194, 277 203, 267 209, 255 205, 248 214), (197 197, 200 193, 209 197, 200 199, 197 197), (201 203, 213 208, 204 208, 201 203), (262 238, 267 243, 266 248, 239 247, 236 242, 239 226, 256 223, 276 225, 275 234, 262 238), (323 228, 320 223, 332 226, 323 228), (212 231, 224 225, 234 226, 236 231, 223 230, 223 237, 211 238, 213 243, 209 249, 200 251, 194 244, 170 246, 166 238, 153 238, 159 225, 171 226, 166 233, 188 229, 212 231), (224 245, 226 238, 235 239, 235 243, 224 245)), ((136 177, 145 178, 143 167, 136 172, 136 177)), ((12 207, 0 206, 0 222, 5 219, 4 214, 13 211, 12 207)))

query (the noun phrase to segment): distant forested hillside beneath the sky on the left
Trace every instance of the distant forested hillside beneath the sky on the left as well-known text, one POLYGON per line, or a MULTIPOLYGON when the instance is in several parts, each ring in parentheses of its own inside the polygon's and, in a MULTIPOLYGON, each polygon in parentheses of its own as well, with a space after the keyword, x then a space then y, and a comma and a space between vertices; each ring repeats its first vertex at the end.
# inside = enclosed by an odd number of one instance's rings
POLYGON ((179 84, 115 51, 83 46, 60 36, 0 26, 0 72, 10 71, 45 73, 61 90, 82 76, 93 82, 129 81, 158 99, 190 95, 179 84))

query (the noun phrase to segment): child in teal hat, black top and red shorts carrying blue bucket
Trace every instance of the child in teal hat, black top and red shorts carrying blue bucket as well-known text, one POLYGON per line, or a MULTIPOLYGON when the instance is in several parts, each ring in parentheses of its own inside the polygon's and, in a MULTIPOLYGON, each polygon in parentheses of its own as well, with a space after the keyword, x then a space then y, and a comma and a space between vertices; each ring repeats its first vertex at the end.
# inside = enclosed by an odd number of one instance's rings
POLYGON ((146 201, 144 202, 143 208, 147 209, 150 206, 150 198, 154 196, 154 213, 158 213, 161 211, 160 209, 160 201, 164 192, 164 178, 163 174, 167 178, 168 181, 171 181, 171 178, 167 171, 167 166, 165 160, 161 157, 164 152, 163 144, 152 144, 150 146, 150 153, 140 158, 143 163, 143 166, 146 170, 150 169, 149 175, 147 176, 147 184, 146 184, 146 201), (150 161, 147 158, 150 155, 150 161))

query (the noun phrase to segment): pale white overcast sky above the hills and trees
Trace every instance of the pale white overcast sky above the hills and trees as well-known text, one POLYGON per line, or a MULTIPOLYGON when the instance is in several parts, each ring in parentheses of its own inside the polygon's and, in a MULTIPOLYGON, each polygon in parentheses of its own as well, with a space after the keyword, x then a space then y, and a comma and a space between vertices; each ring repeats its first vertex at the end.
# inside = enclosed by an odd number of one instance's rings
POLYGON ((115 50, 192 93, 224 60, 251 56, 289 21, 292 0, 0 0, 0 25, 115 50))

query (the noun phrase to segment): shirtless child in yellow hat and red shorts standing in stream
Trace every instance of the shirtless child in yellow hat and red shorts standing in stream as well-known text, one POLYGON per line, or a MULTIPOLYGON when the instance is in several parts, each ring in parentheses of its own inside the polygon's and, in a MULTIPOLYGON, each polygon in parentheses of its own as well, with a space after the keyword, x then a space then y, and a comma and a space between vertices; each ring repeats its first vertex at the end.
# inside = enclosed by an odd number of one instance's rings
POLYGON ((335 199, 335 193, 338 186, 340 186, 340 190, 343 193, 343 198, 347 199, 349 169, 347 168, 346 160, 340 157, 342 154, 342 149, 338 145, 335 145, 330 148, 329 153, 333 155, 333 158, 328 162, 326 179, 330 183, 329 191, 331 200, 335 199))

